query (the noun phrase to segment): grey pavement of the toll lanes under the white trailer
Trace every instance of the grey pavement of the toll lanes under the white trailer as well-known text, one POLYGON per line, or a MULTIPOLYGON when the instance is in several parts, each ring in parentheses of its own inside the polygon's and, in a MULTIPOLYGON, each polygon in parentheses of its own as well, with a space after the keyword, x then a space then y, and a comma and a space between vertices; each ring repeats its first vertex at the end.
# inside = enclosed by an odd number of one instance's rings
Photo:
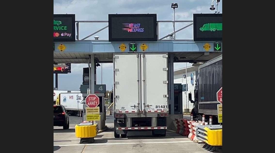
POLYGON ((80 122, 77 116, 70 116, 70 128, 54 126, 54 152, 55 153, 209 153, 202 148, 203 144, 194 143, 187 137, 167 130, 166 137, 153 137, 152 133, 143 136, 128 136, 127 138, 114 138, 114 116, 106 116, 107 130, 98 133, 95 142, 91 144, 79 144, 80 139, 75 137, 74 126, 80 122))

